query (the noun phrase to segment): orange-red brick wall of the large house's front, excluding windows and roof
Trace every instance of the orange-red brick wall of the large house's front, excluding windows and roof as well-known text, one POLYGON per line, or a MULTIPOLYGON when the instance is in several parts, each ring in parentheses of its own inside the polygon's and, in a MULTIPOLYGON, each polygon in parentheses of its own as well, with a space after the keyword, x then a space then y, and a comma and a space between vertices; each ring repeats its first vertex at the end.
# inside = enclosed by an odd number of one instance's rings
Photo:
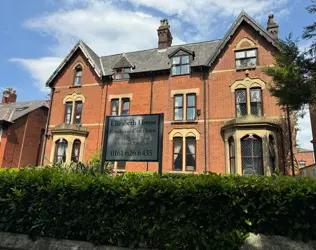
MULTIPOLYGON (((63 98, 73 92, 81 93, 86 101, 83 105, 82 124, 89 129, 84 151, 84 160, 88 160, 102 143, 102 130, 104 122, 104 107, 106 105, 106 115, 111 112, 111 95, 132 95, 130 103, 130 114, 150 113, 150 93, 152 87, 152 113, 164 113, 164 171, 172 170, 173 143, 169 140, 169 133, 173 129, 194 128, 201 139, 196 142, 197 147, 197 171, 204 170, 204 157, 207 157, 207 171, 218 173, 225 172, 224 142, 221 135, 221 128, 224 122, 236 117, 235 96, 230 90, 230 85, 246 77, 245 71, 236 71, 234 48, 242 38, 250 38, 258 45, 259 65, 256 69, 250 70, 248 77, 260 78, 267 83, 267 88, 271 79, 261 72, 261 67, 272 64, 272 54, 275 49, 268 44, 257 32, 248 24, 243 24, 237 29, 235 35, 228 43, 219 59, 211 68, 209 78, 206 80, 206 110, 204 110, 204 85, 201 72, 192 72, 190 76, 170 76, 169 74, 154 76, 151 86, 151 77, 143 76, 129 81, 106 81, 102 83, 95 75, 87 60, 81 52, 74 54, 66 65, 65 69, 56 77, 55 94, 52 104, 50 130, 64 120, 63 98), (73 68, 76 63, 83 64, 82 87, 72 88, 73 68), (105 86, 105 87, 104 87, 105 86), (197 123, 175 124, 173 121, 173 103, 171 91, 179 89, 199 89, 196 104, 201 110, 197 123), (204 112, 207 116, 207 133, 204 132, 204 112), (206 140, 207 154, 204 155, 204 140, 206 140)), ((268 89, 263 90, 263 110, 264 115, 269 117, 280 117, 283 112, 276 105, 275 98, 271 97, 268 89)), ((47 142, 46 158, 50 159, 52 137, 47 142)), ((157 163, 127 163, 128 171, 157 171, 157 163)))

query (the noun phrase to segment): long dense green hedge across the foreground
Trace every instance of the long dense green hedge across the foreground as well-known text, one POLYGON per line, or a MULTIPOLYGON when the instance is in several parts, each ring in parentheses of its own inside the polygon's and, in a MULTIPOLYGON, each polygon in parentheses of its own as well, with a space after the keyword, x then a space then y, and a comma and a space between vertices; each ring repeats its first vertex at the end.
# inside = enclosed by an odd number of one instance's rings
POLYGON ((315 206, 308 178, 0 172, 0 231, 33 238, 236 249, 248 232, 316 239, 315 206))

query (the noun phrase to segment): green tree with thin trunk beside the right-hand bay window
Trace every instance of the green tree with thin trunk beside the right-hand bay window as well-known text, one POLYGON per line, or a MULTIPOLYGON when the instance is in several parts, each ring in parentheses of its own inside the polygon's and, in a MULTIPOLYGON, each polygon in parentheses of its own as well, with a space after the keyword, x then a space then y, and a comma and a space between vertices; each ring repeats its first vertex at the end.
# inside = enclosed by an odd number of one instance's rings
POLYGON ((262 71, 273 80, 269 91, 277 98, 278 105, 287 113, 292 175, 295 176, 291 119, 293 112, 301 111, 312 100, 309 81, 310 60, 299 51, 297 40, 289 35, 278 41, 279 51, 274 55, 274 65, 262 71))

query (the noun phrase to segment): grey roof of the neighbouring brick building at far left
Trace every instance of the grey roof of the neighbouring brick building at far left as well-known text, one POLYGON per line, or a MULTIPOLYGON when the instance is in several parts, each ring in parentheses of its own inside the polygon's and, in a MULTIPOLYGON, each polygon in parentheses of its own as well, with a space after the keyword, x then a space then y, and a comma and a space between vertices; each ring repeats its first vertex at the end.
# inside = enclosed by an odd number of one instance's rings
POLYGON ((49 108, 47 101, 12 102, 0 104, 0 122, 11 122, 41 107, 49 108))

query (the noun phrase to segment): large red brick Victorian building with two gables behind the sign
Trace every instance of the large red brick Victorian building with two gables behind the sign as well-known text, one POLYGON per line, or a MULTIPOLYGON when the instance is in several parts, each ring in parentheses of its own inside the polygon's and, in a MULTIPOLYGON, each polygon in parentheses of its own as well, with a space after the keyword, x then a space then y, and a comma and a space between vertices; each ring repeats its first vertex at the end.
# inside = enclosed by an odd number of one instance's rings
MULTIPOLYGON (((79 41, 47 81, 52 107, 44 163, 87 161, 102 147, 105 116, 164 113, 164 172, 270 174, 284 169, 283 112, 261 68, 273 63, 278 25, 242 12, 223 39, 99 56, 79 41)), ((157 171, 157 163, 116 163, 157 171)))

